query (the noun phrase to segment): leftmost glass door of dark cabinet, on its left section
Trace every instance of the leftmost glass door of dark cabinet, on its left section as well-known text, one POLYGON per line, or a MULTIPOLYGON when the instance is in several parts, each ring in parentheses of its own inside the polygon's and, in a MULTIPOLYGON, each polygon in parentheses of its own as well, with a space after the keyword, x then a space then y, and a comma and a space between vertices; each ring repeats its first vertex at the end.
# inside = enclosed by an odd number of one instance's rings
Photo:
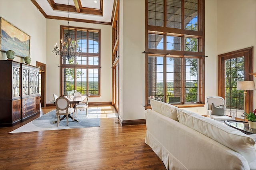
POLYGON ((20 67, 12 67, 12 97, 20 96, 20 67))

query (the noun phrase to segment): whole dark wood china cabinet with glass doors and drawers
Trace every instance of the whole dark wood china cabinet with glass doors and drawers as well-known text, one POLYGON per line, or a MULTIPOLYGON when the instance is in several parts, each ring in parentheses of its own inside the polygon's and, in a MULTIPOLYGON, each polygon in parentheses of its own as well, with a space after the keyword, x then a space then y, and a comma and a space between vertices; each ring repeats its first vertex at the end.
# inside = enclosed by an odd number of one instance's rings
POLYGON ((0 127, 14 126, 40 113, 38 67, 0 60, 0 77, 0 127))

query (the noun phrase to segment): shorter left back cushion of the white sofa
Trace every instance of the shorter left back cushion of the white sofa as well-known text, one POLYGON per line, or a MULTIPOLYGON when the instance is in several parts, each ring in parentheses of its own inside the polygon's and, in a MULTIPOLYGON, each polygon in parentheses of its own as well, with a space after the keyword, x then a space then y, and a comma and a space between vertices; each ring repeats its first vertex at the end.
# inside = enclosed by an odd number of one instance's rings
POLYGON ((150 105, 153 111, 156 111, 166 117, 169 117, 175 121, 178 121, 177 113, 181 111, 178 107, 174 107, 168 103, 164 103, 161 101, 156 101, 150 99, 150 105))

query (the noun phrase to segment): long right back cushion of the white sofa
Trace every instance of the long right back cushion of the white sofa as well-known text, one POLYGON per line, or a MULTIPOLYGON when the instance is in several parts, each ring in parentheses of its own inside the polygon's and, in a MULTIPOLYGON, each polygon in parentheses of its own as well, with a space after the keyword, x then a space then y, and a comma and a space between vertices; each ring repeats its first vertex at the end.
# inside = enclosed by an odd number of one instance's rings
POLYGON ((256 144, 253 138, 235 128, 183 109, 177 114, 180 123, 242 154, 250 169, 256 169, 256 144))

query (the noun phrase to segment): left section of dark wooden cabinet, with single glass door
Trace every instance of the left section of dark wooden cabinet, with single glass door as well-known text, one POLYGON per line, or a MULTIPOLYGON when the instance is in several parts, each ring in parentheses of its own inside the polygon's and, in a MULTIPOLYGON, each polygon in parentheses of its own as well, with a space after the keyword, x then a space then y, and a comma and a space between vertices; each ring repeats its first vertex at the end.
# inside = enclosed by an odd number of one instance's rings
POLYGON ((0 60, 0 126, 21 121, 20 63, 0 60))

